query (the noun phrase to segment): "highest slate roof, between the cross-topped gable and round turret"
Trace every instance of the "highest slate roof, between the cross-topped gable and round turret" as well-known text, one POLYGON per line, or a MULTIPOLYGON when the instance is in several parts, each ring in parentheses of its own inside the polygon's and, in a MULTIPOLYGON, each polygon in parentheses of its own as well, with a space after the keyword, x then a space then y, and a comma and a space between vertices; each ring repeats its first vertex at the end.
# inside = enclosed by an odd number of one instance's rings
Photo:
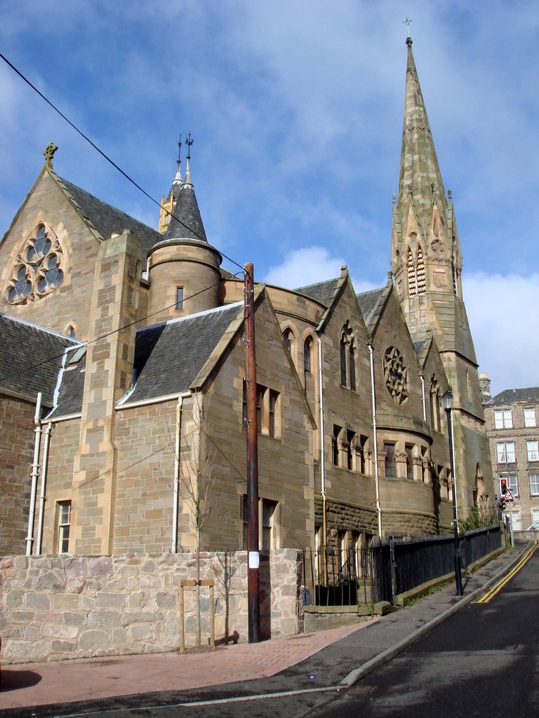
POLYGON ((113 233, 121 234, 124 230, 129 229, 142 242, 146 252, 157 242, 162 241, 162 234, 152 227, 148 227, 121 210, 98 200, 97 197, 72 185, 63 177, 57 177, 57 180, 60 180, 60 183, 68 190, 80 207, 83 216, 98 231, 103 240, 110 239, 113 233))

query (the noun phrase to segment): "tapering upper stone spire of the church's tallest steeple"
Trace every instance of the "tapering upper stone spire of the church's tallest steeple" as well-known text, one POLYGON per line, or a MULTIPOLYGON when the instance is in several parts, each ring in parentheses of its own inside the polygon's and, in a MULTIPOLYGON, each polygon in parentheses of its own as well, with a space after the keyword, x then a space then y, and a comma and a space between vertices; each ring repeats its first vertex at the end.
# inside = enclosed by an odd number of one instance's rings
POLYGON ((399 207, 413 201, 420 228, 425 231, 436 197, 438 208, 445 212, 446 192, 430 132, 423 93, 412 52, 412 38, 406 38, 408 58, 404 122, 402 124, 402 151, 400 155, 399 207))

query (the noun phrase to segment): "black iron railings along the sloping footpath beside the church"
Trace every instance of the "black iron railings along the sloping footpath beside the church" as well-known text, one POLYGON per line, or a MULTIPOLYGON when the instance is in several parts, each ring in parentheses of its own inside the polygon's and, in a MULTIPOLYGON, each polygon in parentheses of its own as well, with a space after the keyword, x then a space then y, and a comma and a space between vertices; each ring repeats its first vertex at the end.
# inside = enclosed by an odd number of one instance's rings
MULTIPOLYGON (((502 544, 499 526, 461 535, 464 568, 502 544)), ((425 582, 455 570, 455 541, 451 536, 373 539, 367 547, 307 551, 303 582, 312 587, 308 601, 318 606, 356 605, 389 601, 425 582)))

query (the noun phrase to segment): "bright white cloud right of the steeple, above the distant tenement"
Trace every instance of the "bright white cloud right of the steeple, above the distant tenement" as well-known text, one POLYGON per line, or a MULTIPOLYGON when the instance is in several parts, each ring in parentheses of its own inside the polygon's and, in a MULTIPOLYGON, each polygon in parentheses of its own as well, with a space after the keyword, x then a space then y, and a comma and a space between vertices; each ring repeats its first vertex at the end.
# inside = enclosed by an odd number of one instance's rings
POLYGON ((464 302, 479 371, 492 380, 492 395, 539 386, 539 274, 467 274, 464 302))

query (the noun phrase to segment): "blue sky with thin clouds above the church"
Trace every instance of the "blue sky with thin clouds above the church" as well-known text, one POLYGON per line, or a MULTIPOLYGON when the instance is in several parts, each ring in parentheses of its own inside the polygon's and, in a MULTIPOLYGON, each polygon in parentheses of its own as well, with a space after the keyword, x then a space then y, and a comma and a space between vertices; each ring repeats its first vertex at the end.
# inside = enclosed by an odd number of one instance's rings
MULTIPOLYGON (((538 386, 535 0, 4 0, 0 47, 157 200, 191 131, 208 241, 257 279, 300 286, 347 264, 362 291, 390 269, 406 16, 480 370, 494 393, 538 386)), ((0 91, 3 231, 50 141, 57 174, 157 224, 157 207, 1 61, 0 91)))

